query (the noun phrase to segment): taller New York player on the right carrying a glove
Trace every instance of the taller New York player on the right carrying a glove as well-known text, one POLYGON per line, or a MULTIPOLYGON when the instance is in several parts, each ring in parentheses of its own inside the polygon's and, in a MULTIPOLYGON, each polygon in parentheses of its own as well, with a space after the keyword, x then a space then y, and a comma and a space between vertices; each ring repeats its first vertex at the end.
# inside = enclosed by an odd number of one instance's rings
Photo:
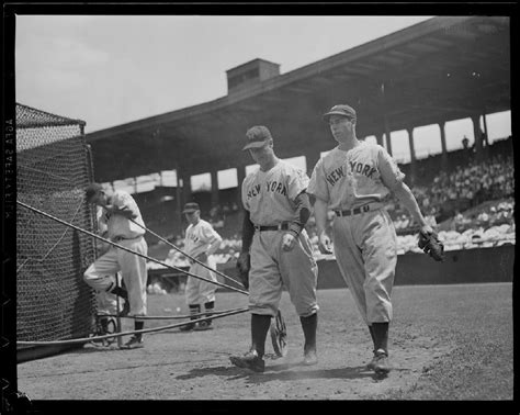
POLYGON ((326 234, 327 212, 336 213, 332 242, 341 274, 369 326, 374 356, 368 368, 387 373, 388 324, 397 262, 394 224, 384 209, 392 192, 407 208, 421 231, 431 234, 415 197, 403 182, 404 173, 377 144, 355 136, 357 113, 335 105, 324 115, 338 146, 316 164, 307 192, 316 198, 314 210, 319 248, 330 254, 326 234))

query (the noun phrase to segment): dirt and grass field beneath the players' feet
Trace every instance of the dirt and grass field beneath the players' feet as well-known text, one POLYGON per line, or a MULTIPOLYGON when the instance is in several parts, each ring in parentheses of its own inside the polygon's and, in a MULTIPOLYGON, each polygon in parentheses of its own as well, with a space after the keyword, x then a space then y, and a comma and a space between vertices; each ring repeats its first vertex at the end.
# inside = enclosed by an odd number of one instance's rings
MULTIPOLYGON (((149 295, 150 315, 186 314, 181 295, 149 295)), ((303 334, 286 293, 285 358, 264 373, 236 368, 229 356, 249 346, 249 314, 215 321, 215 329, 145 336, 145 348, 92 345, 18 366, 19 390, 38 400, 490 400, 513 399, 512 284, 396 287, 387 378, 364 364, 368 329, 346 289, 320 290, 318 357, 301 364, 303 334)), ((216 309, 247 305, 217 293, 216 309)), ((172 324, 147 322, 146 328, 172 324)), ((132 329, 125 319, 124 329, 132 329)), ((267 352, 272 354, 270 340, 267 352)))

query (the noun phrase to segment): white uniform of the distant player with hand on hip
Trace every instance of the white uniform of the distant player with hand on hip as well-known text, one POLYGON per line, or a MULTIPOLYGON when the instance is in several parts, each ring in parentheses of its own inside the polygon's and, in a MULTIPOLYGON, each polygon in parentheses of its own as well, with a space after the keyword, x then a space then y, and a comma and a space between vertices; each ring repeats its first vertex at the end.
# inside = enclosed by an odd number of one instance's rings
MULTIPOLYGON (((207 253, 207 249, 213 244, 222 240, 221 235, 213 228, 213 226, 200 218, 195 225, 190 224, 186 228, 184 242, 185 253, 196 258, 201 254, 207 253)), ((208 255, 205 262, 212 269, 216 268, 216 261, 213 256, 208 255)), ((212 281, 217 281, 215 272, 200 263, 193 262, 189 270, 190 273, 199 276, 212 281)), ((215 301, 215 291, 217 285, 206 282, 204 280, 188 276, 185 285, 186 303, 190 304, 205 304, 215 301)))

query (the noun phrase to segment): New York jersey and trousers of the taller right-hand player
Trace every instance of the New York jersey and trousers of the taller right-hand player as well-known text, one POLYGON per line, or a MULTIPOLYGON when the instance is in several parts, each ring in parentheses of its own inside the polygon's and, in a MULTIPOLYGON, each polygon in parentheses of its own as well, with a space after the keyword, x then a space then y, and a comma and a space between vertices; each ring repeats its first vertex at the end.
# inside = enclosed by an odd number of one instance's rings
POLYGON ((341 274, 366 324, 392 319, 397 237, 384 205, 404 177, 382 146, 360 142, 349 152, 336 147, 319 159, 307 189, 335 212, 361 211, 337 213, 332 242, 341 274))

